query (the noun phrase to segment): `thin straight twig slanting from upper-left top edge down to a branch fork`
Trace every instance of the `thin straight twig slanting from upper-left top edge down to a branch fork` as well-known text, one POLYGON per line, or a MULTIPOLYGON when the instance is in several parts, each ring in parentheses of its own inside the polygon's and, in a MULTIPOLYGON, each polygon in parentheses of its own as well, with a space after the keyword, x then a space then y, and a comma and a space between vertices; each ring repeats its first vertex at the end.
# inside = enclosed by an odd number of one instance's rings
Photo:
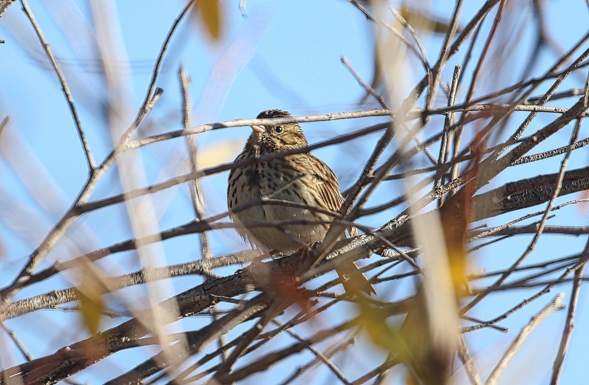
POLYGON ((41 31, 41 26, 37 24, 37 20, 35 19, 35 16, 33 16, 31 9, 27 4, 27 1, 21 0, 21 4, 22 11, 25 12, 25 15, 27 15, 27 18, 29 19, 29 22, 31 22, 31 25, 35 30, 35 34, 37 34, 37 38, 39 39, 39 42, 43 47, 43 51, 45 51, 45 55, 47 55, 47 58, 49 59, 49 62, 51 62, 51 66, 53 67, 55 74, 59 79, 59 84, 61 84, 61 89, 64 92, 65 100, 68 103, 68 108, 70 108, 70 114, 72 115, 72 119, 74 120, 76 130, 78 131, 78 137, 80 137, 82 147, 84 148, 84 154, 86 155, 86 162, 88 164, 88 174, 92 175, 95 168, 94 158, 92 157, 92 152, 90 151, 90 144, 88 144, 86 136, 84 135, 84 130, 82 130, 82 122, 80 121, 80 117, 78 117, 78 112, 75 108, 74 98, 72 98, 70 87, 68 86, 67 81, 65 81, 64 73, 61 72, 61 68, 59 68, 59 65, 55 60, 53 52, 51 52, 51 48, 49 48, 49 43, 47 42, 47 39, 45 39, 45 36, 41 31))

